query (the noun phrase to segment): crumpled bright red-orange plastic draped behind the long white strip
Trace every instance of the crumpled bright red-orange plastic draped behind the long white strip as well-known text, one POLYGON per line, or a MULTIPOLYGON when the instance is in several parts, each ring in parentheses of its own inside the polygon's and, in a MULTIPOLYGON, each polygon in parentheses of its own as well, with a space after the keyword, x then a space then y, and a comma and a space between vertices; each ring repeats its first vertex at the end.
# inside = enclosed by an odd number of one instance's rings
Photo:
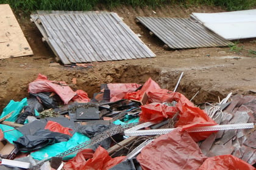
MULTIPOLYGON (((199 107, 194 106, 194 104, 188 100, 184 95, 178 92, 171 92, 166 89, 155 89, 151 92, 148 92, 148 101, 149 102, 169 102, 176 101, 176 106, 168 106, 168 110, 172 110, 175 112, 179 112, 179 120, 176 123, 176 127, 182 127, 182 130, 185 131, 190 129, 191 127, 199 127, 199 126, 213 126, 217 123, 212 120, 212 118, 208 117, 204 110, 201 110, 199 107)), ((143 111, 143 107, 141 106, 141 121, 154 121, 152 117, 147 117, 146 115, 152 115, 154 112, 160 112, 159 108, 155 107, 151 108, 151 112, 143 111), (148 118, 151 118, 150 120, 148 118)), ((157 114, 158 117, 155 120, 160 120, 160 114, 157 114)), ((171 118, 173 114, 169 115, 168 117, 171 118)), ((162 118, 166 118, 166 114, 162 112, 162 118)), ((212 132, 193 132, 190 135, 193 137, 195 141, 204 140, 207 138, 212 132)))

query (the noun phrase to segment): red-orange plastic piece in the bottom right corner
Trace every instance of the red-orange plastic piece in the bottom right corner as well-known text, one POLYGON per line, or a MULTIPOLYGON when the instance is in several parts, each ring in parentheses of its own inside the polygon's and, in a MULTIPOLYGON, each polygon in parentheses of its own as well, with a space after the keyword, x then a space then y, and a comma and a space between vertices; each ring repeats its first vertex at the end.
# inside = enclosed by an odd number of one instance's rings
POLYGON ((216 157, 207 158, 204 163, 197 170, 255 170, 255 168, 246 161, 233 155, 219 155, 216 157))

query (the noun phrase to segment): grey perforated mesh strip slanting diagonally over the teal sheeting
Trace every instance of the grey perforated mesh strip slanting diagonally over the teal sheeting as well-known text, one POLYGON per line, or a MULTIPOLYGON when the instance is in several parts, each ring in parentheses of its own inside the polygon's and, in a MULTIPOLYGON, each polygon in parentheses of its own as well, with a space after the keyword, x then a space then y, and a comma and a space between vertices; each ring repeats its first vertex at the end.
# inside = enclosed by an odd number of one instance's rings
MULTIPOLYGON (((107 131, 102 132, 101 134, 97 135, 96 137, 91 138, 91 140, 85 141, 84 143, 78 144, 77 146, 68 149, 65 152, 62 152, 58 155, 55 155, 55 157, 65 157, 68 154, 74 154, 77 153, 80 149, 88 148, 89 146, 93 146, 93 144, 99 143, 106 138, 109 137, 109 135, 116 135, 119 133, 123 133, 125 129, 129 129, 130 127, 134 126, 136 123, 130 123, 126 124, 125 126, 114 126, 111 129, 108 129, 107 131)), ((48 161, 50 158, 46 158, 44 160, 41 160, 37 165, 30 168, 31 170, 40 170, 40 167, 43 165, 45 161, 48 161)))

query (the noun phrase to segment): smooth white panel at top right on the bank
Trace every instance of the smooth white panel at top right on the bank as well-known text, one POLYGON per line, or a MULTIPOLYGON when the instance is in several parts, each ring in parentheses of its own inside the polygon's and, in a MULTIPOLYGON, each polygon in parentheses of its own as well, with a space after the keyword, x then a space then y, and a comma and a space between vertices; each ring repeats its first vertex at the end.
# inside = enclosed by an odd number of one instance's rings
POLYGON ((191 17, 225 39, 256 37, 256 10, 192 13, 191 17))

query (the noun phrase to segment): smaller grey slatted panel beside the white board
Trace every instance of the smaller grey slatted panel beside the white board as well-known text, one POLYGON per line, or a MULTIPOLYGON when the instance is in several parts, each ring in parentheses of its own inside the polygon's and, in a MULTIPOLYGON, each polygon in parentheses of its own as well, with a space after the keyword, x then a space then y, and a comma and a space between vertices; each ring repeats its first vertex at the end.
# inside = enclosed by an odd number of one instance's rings
POLYGON ((137 17, 137 19, 171 49, 221 47, 232 44, 203 25, 187 18, 137 17))

